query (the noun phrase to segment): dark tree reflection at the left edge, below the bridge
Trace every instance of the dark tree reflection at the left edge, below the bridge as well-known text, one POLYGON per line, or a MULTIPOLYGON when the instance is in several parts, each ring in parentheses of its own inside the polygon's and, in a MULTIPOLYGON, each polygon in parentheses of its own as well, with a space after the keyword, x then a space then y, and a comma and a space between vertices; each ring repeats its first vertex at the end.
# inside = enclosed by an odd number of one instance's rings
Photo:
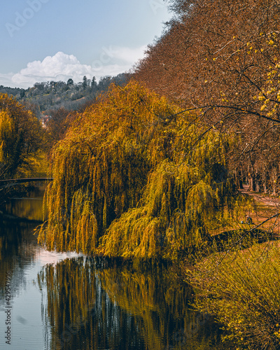
MULTIPOLYGON (((43 186, 29 193, 29 198, 10 200, 0 214, 0 293, 5 286, 6 272, 16 274, 15 290, 25 281, 24 269, 36 260, 36 223, 42 221, 43 186)), ((3 295, 3 294, 1 294, 3 295)))

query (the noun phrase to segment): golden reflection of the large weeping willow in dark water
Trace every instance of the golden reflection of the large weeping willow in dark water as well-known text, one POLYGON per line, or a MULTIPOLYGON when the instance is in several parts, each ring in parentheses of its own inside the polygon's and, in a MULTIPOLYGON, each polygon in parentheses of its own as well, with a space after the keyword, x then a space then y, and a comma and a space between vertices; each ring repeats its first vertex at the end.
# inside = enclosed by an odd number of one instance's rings
POLYGON ((172 266, 80 257, 45 265, 38 283, 50 349, 219 349, 172 266))

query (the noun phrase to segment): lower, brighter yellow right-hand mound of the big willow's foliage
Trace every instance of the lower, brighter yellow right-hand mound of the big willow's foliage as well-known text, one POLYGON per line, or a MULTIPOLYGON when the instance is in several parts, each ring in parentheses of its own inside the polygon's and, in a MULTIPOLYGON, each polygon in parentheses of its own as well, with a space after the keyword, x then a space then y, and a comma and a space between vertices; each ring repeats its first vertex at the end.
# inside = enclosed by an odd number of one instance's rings
POLYGON ((218 228, 223 216, 219 197, 224 197, 224 204, 232 195, 229 183, 210 185, 207 176, 201 179, 202 173, 183 162, 162 162, 148 178, 142 205, 113 221, 102 237, 102 253, 174 259, 202 244, 209 226, 218 228))

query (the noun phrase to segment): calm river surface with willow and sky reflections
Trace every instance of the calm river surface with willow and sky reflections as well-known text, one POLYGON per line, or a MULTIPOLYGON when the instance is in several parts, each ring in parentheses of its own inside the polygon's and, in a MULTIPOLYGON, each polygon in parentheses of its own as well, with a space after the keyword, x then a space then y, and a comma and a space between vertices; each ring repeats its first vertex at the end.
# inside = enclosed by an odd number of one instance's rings
POLYGON ((0 349, 223 349, 174 267, 38 246, 37 224, 16 217, 40 220, 41 197, 13 200, 0 217, 0 349))

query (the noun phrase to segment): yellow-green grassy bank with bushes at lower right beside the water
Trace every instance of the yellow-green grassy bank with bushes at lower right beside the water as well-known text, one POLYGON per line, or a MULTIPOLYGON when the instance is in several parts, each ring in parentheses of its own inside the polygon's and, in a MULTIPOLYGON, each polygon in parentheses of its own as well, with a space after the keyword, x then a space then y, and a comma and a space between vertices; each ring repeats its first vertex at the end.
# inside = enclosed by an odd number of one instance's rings
MULTIPOLYGON (((234 249, 213 253, 188 268, 186 280, 195 288, 195 307, 214 314, 223 324, 225 344, 234 349, 275 350, 280 349, 278 200, 249 195, 255 199, 253 224, 265 221, 260 227, 276 240, 255 242, 250 248, 242 248, 239 241, 234 249)), ((247 225, 248 230, 254 225, 247 225)))

